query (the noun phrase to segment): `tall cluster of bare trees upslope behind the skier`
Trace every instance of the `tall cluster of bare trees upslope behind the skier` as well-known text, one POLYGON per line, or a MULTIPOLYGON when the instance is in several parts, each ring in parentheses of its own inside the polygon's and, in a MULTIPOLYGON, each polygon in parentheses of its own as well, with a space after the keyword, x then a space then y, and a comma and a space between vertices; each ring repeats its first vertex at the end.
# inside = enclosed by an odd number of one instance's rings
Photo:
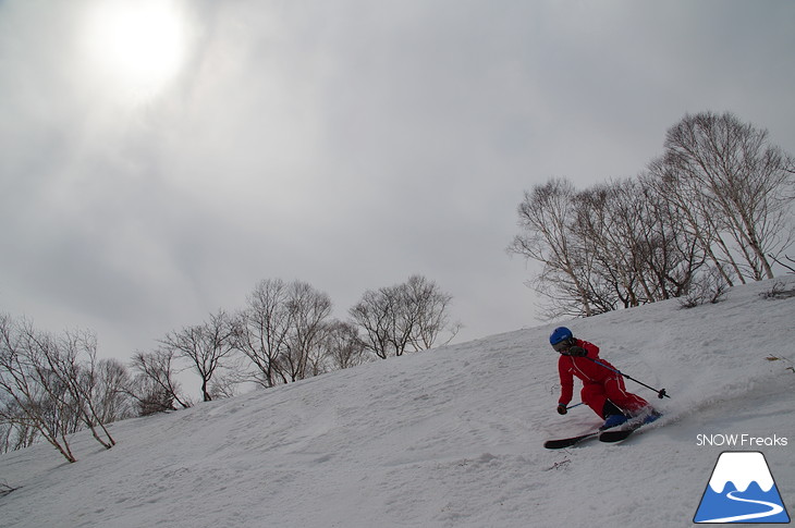
POLYGON ((540 262, 547 315, 588 317, 773 278, 794 234, 795 160, 732 113, 685 115, 636 177, 525 193, 509 253, 540 262))

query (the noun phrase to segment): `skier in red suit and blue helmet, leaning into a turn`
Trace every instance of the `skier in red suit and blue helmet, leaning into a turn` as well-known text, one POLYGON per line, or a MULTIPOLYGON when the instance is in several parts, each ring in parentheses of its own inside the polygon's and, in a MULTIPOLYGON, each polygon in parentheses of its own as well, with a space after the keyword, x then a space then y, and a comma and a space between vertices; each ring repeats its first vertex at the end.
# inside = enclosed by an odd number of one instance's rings
POLYGON ((566 406, 574 392, 573 377, 576 376, 583 381, 583 403, 604 420, 604 425, 600 427, 602 430, 617 427, 639 415, 647 415, 646 422, 660 416, 649 402, 627 392, 621 373, 599 357, 599 347, 594 343, 575 339, 565 327, 554 329, 549 336, 549 343, 561 354, 558 360, 561 377, 559 414, 567 413, 566 406))

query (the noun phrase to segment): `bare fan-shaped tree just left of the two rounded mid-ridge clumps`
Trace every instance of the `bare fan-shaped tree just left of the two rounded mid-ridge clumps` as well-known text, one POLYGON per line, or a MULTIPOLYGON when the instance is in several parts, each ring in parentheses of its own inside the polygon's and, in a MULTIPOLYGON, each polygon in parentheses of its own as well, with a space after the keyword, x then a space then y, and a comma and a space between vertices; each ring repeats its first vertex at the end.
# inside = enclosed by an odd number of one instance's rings
POLYGON ((235 352, 236 342, 236 324, 225 311, 219 310, 210 314, 203 324, 170 332, 160 343, 192 364, 201 379, 201 396, 209 402, 212 400, 209 391, 212 376, 235 352))

